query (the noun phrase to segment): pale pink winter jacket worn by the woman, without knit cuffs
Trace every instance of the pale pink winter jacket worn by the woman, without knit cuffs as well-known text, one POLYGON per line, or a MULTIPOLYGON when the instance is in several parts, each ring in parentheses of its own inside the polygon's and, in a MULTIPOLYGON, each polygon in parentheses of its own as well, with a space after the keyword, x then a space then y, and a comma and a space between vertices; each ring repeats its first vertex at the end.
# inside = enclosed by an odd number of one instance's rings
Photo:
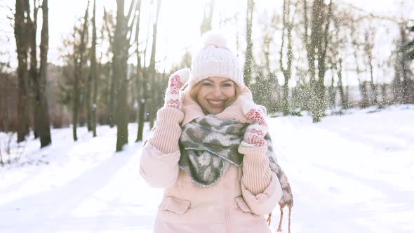
MULTIPOLYGON (((196 116, 191 109, 184 107, 186 116, 182 124, 194 118, 189 115, 196 116)), ((164 137, 170 140, 171 135, 164 134, 164 137)), ((249 153, 265 156, 266 149, 245 149, 243 154, 245 157, 250 156, 249 153)), ((253 194, 243 183, 243 167, 227 164, 225 174, 215 185, 200 187, 179 168, 179 160, 178 148, 164 153, 154 147, 151 140, 142 150, 140 175, 150 186, 164 189, 156 214, 155 233, 271 232, 266 217, 282 195, 276 174, 271 173, 269 185, 263 192, 253 194)))

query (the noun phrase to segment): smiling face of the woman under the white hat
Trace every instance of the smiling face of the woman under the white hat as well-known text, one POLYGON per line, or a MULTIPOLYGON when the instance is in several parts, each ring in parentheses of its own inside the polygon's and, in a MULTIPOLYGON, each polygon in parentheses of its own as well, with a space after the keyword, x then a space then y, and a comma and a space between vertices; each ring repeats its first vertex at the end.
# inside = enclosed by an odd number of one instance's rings
POLYGON ((231 79, 220 76, 203 79, 196 93, 196 100, 204 111, 219 114, 236 97, 236 84, 231 79))

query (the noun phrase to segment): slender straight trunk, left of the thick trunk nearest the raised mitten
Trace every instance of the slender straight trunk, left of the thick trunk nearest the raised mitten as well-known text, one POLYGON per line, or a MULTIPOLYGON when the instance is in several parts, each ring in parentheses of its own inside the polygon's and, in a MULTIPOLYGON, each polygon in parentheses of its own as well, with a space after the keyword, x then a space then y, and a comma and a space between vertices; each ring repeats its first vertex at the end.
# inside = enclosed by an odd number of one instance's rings
POLYGON ((98 76, 96 75, 96 0, 93 0, 92 17, 92 51, 91 51, 91 80, 93 81, 93 98, 91 109, 91 128, 96 137, 96 112, 98 108, 98 76))

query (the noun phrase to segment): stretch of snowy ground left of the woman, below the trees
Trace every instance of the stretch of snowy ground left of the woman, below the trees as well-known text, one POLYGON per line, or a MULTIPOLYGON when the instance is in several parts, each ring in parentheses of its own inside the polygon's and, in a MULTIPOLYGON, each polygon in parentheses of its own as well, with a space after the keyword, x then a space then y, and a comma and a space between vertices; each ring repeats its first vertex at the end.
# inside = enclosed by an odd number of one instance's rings
MULTIPOLYGON (((49 172, 42 172, 34 171, 38 169, 27 165, 25 168, 4 169, 10 173, 8 175, 12 175, 16 169, 22 169, 28 176, 39 173, 42 178, 47 175, 59 178, 43 180, 52 186, 44 187, 44 192, 34 192, 27 196, 22 194, 24 197, 5 204, 0 202, 0 232, 152 232, 156 209, 154 206, 161 199, 161 192, 146 187, 138 175, 138 154, 142 143, 131 143, 125 152, 114 153, 116 129, 107 128, 103 131, 108 135, 98 139, 86 136, 81 139, 82 142, 70 142, 73 145, 65 146, 65 150, 47 148, 51 154, 59 150, 62 157, 68 154, 74 157, 73 161, 60 158, 59 160, 66 163, 60 169, 53 168, 49 172), (94 142, 96 140, 100 142, 94 142), (88 164, 88 167, 82 168, 82 164, 88 164), (73 172, 67 166, 71 166, 73 172), (63 182, 59 184, 61 186, 55 186, 58 180, 63 182), (142 193, 144 191, 148 193, 142 193), (159 193, 158 199, 156 193, 159 193), (143 197, 149 200, 142 201, 143 197)), ((136 132, 136 127, 131 127, 130 131, 130 141, 133 142, 132 135, 133 131, 136 132)), ((69 137, 69 129, 67 134, 69 137)), ((59 138, 59 135, 56 137, 59 138)), ((46 157, 49 160, 55 159, 53 155, 46 157)), ((45 160, 44 156, 42 158, 45 160)), ((60 166, 57 164, 60 163, 50 161, 47 166, 60 166)), ((40 166, 41 170, 47 169, 46 165, 40 166)), ((3 173, 1 180, 7 178, 6 175, 3 173)), ((29 191, 22 189, 20 185, 34 186, 37 182, 41 180, 27 177, 4 187, 0 189, 0 200, 1 197, 11 196, 7 194, 15 194, 13 189, 29 191)))

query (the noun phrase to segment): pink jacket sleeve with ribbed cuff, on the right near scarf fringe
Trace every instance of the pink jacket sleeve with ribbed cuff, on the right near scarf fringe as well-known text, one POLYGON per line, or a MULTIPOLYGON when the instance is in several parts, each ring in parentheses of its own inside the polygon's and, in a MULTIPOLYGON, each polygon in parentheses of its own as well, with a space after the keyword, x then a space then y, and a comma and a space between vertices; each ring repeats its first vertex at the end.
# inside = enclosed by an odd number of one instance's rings
POLYGON ((281 199, 282 189, 276 174, 269 168, 267 146, 239 147, 243 157, 241 195, 252 213, 271 213, 281 199))

